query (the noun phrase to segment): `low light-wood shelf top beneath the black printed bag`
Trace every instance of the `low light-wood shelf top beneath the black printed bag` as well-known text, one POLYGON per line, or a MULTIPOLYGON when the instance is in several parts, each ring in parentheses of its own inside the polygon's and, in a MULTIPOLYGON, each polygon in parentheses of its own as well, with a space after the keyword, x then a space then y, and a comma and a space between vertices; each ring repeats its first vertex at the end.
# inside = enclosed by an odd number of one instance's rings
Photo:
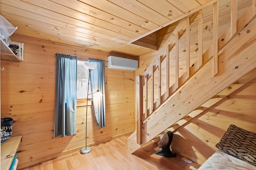
POLYGON ((1 145, 1 170, 8 170, 20 146, 22 136, 10 137, 1 145))

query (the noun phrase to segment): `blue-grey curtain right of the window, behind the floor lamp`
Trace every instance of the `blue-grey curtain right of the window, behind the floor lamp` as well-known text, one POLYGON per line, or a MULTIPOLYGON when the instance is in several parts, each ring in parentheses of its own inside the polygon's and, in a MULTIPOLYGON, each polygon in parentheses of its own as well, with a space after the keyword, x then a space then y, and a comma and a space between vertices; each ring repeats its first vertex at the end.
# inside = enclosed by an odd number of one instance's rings
POLYGON ((105 106, 105 61, 100 59, 89 59, 90 63, 96 63, 90 75, 92 93, 100 90, 102 96, 96 97, 92 94, 93 109, 99 125, 99 129, 106 127, 106 106, 105 106))

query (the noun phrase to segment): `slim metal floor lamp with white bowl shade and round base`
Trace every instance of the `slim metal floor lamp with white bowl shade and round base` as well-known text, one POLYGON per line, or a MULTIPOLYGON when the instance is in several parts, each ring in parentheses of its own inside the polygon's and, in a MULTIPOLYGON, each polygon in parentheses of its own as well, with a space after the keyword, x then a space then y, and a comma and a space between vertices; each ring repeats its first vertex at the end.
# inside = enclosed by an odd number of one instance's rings
MULTIPOLYGON (((86 119, 86 121, 85 121, 85 124, 86 124, 85 125, 85 147, 80 150, 81 154, 87 154, 92 151, 91 147, 87 147, 87 110, 88 110, 88 96, 89 96, 88 92, 89 92, 90 74, 91 74, 91 71, 96 67, 97 64, 85 62, 84 65, 89 70, 89 78, 88 78, 88 87, 87 87, 86 118, 85 118, 86 119)), ((98 90, 97 90, 97 92, 98 92, 98 90)))

